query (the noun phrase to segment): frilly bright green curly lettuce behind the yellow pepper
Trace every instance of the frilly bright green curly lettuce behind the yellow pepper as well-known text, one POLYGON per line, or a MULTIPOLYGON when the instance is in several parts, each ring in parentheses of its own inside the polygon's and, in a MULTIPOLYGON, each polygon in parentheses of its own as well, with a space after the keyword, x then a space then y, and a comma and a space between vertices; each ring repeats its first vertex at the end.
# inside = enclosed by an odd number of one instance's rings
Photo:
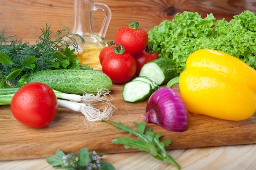
POLYGON ((256 69, 256 16, 250 11, 227 22, 210 13, 184 11, 172 21, 165 20, 148 32, 149 44, 159 57, 171 58, 181 73, 187 57, 199 49, 216 49, 237 57, 256 69))

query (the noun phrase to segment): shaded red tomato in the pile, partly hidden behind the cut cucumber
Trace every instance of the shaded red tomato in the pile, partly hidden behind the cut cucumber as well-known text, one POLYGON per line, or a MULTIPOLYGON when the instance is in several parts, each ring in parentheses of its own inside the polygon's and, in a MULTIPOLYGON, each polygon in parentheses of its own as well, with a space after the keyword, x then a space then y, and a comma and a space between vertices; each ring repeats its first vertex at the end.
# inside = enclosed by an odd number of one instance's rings
POLYGON ((141 67, 144 66, 144 64, 159 58, 159 55, 153 50, 152 46, 148 45, 144 51, 133 57, 135 58, 137 65, 135 75, 139 75, 141 67))

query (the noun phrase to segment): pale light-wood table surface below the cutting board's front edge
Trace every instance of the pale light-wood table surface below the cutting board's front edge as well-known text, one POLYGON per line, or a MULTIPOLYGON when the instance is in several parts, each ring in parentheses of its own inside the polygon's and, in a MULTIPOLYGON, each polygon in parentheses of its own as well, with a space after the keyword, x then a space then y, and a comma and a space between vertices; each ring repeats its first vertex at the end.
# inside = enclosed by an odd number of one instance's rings
MULTIPOLYGON (((182 170, 254 170, 256 144, 168 150, 182 170)), ((177 170, 146 152, 128 152, 103 156, 116 170, 177 170)), ((56 170, 45 159, 0 161, 1 170, 56 170)))

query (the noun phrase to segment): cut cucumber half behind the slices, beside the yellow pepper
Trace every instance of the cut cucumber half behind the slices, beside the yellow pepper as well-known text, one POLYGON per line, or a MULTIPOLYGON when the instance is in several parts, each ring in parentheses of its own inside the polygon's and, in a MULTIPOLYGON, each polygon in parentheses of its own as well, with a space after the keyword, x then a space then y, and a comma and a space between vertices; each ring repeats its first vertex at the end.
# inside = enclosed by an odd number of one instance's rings
POLYGON ((178 68, 169 58, 159 58, 142 66, 139 76, 146 76, 157 85, 165 84, 178 76, 178 68))

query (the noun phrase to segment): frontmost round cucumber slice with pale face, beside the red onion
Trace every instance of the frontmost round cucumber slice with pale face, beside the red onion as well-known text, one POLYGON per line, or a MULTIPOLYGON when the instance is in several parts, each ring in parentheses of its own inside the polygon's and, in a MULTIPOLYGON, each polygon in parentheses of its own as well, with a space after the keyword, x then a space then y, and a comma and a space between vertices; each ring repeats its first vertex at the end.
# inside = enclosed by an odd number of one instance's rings
POLYGON ((122 96, 126 102, 139 102, 153 93, 149 83, 144 81, 131 81, 124 85, 122 96))

